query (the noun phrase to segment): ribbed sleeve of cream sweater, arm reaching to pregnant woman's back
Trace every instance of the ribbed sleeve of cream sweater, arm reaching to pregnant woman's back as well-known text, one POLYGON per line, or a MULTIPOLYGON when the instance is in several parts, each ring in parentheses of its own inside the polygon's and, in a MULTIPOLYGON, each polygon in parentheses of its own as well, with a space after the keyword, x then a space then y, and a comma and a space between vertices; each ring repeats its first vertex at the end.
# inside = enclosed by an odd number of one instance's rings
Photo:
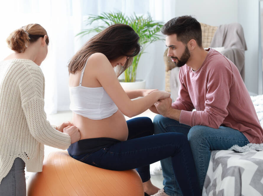
POLYGON ((22 109, 31 135, 40 143, 67 149, 71 138, 54 129, 46 120, 44 111, 44 76, 41 69, 26 66, 19 81, 22 109))

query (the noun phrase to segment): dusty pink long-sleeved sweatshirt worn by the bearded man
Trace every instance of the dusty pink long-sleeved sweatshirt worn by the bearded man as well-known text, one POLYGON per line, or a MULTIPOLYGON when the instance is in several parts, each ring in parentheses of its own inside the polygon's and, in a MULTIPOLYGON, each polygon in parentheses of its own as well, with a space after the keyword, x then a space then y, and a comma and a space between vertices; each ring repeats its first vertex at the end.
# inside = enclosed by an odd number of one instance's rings
POLYGON ((202 66, 179 71, 179 97, 172 108, 182 110, 180 123, 193 127, 223 125, 241 131, 250 143, 263 143, 263 130, 246 86, 234 63, 210 48, 202 66), (197 111, 192 111, 193 109, 197 111))

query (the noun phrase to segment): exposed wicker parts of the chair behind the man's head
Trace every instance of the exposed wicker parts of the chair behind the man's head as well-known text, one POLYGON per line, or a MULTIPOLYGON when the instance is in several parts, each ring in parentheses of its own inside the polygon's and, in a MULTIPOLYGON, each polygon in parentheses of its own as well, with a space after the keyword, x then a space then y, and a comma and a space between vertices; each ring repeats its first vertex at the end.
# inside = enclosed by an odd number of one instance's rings
MULTIPOLYGON (((202 28, 202 45, 204 48, 208 48, 215 35, 215 31, 217 30, 217 27, 206 25, 204 23, 200 23, 200 24, 202 28)), ((171 61, 171 58, 167 56, 167 53, 168 53, 168 48, 165 50, 163 54, 163 61, 165 63, 165 91, 171 92, 170 74, 171 74, 171 69, 175 68, 175 65, 173 61, 171 61)))

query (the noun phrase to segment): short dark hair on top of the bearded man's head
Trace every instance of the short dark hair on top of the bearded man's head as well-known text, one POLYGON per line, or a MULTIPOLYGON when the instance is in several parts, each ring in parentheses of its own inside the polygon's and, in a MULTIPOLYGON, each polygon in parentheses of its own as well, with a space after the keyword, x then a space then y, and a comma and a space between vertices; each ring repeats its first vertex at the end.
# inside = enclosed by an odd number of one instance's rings
POLYGON ((176 34, 177 40, 187 44, 191 39, 202 47, 202 29, 197 19, 191 16, 175 17, 163 25, 162 33, 164 35, 176 34))

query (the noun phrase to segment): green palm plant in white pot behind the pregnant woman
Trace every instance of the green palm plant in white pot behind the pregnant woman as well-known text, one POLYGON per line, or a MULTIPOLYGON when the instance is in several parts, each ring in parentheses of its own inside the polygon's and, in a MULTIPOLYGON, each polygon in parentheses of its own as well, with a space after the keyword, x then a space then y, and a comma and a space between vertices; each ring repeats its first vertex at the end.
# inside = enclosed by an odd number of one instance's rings
POLYGON ((137 56, 134 57, 131 66, 124 71, 124 79, 120 80, 120 82, 125 90, 145 88, 145 81, 136 79, 137 66, 141 55, 144 53, 145 48, 150 43, 162 39, 159 32, 163 27, 163 23, 153 21, 149 13, 147 14, 147 16, 137 16, 134 13, 130 17, 127 17, 121 12, 103 12, 98 16, 90 15, 86 21, 87 26, 91 25, 95 21, 101 22, 100 24, 103 25, 99 25, 94 28, 84 29, 80 33, 78 33, 77 36, 84 36, 92 32, 101 32, 106 27, 118 23, 131 26, 134 29, 134 31, 139 35, 139 43, 142 46, 142 50, 137 56), (135 84, 136 87, 130 87, 131 84, 137 81, 138 83, 135 84), (138 86, 138 84, 142 84, 142 86, 138 86))

